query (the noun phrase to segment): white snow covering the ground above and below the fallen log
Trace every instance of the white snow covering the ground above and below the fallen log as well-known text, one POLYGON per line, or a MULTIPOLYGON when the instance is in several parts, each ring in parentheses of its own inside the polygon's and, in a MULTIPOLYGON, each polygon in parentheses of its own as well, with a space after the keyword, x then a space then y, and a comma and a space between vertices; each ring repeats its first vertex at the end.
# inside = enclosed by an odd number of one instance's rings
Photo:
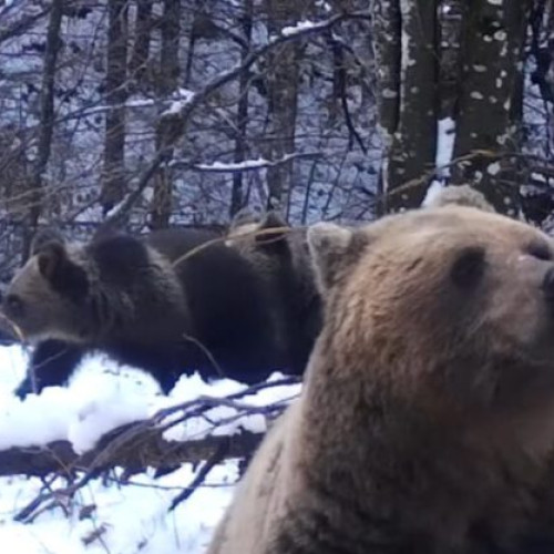
MULTIPOLYGON (((75 451, 85 451, 109 429, 147 418, 161 408, 199 394, 227 396, 243 388, 233 381, 206 384, 194 376, 182 378, 171 396, 163 397, 148 376, 94 356, 83 362, 70 387, 52 387, 21 402, 12 391, 25 362, 27 356, 19 347, 0 348, 0 450, 69 440, 75 451)), ((298 391, 299 386, 275 387, 240 400, 264 404, 289 399, 298 391)), ((232 408, 215 408, 213 414, 220 419, 227 416, 226 410, 232 408)), ((238 427, 259 431, 265 429, 265 420, 250 416, 232 421, 224 431, 233 432, 238 427)), ((171 429, 165 437, 197 439, 208 432, 211 424, 203 419, 171 429)), ((188 500, 168 512, 172 500, 191 483, 196 471, 187 463, 158 479, 153 478, 153 470, 147 471, 125 485, 116 475, 111 481, 93 480, 73 502, 66 503, 65 510, 43 511, 27 524, 14 522, 13 516, 44 484, 35 478, 0 478, 0 544, 24 554, 204 553, 230 501, 238 478, 237 461, 214 468, 188 500)), ((51 486, 57 484, 63 486, 55 482, 51 486)))

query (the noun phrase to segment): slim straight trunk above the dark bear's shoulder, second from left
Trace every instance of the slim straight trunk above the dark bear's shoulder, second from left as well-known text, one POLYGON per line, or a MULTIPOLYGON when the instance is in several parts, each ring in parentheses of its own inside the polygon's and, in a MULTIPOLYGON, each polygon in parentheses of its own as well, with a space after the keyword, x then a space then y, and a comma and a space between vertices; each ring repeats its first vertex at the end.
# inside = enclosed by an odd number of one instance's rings
POLYGON ((107 2, 107 71, 104 167, 100 202, 105 215, 125 194, 125 100, 127 65, 127 2, 107 2))

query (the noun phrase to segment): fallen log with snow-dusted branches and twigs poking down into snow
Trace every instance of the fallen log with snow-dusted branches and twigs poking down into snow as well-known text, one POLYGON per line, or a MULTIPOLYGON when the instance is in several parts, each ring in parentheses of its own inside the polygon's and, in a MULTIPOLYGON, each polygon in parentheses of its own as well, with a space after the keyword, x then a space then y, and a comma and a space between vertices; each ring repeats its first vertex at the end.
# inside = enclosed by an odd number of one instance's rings
POLYGON ((183 463, 204 462, 193 481, 171 503, 170 511, 188 499, 201 486, 212 469, 226 459, 249 458, 261 441, 267 423, 279 416, 295 398, 297 378, 268 380, 226 397, 201 396, 158 410, 142 421, 120 425, 104 433, 93 448, 75 452, 69 440, 45 445, 14 447, 0 451, 0 475, 24 474, 42 478, 44 488, 14 516, 32 522, 53 506, 64 507, 73 495, 91 480, 123 468, 119 479, 129 482, 132 475, 148 468, 158 474, 183 463), (291 386, 291 389, 288 387, 291 386), (255 394, 276 387, 286 387, 288 394, 270 392, 269 402, 255 394), (253 397, 245 401, 245 397, 253 397), (203 424, 198 424, 198 420, 203 424), (53 488, 64 478, 69 484, 53 488))

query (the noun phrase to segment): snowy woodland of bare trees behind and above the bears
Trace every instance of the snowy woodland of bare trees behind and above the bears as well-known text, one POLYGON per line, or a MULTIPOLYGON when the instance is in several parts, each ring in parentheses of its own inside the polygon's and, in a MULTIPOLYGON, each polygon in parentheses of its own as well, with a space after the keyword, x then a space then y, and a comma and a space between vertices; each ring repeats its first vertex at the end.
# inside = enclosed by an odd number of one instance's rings
POLYGON ((547 225, 551 0, 0 1, 0 280, 38 226, 356 223, 470 182, 547 225))

